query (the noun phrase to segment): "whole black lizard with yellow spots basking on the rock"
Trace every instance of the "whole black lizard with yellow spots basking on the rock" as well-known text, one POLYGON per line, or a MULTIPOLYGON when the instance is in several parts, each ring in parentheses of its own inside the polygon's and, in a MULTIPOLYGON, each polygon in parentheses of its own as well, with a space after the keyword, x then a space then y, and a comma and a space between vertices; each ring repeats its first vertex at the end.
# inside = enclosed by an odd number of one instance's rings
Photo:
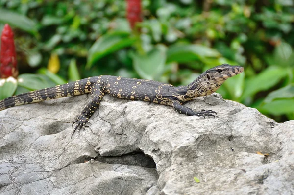
POLYGON ((241 66, 222 64, 201 73, 196 80, 187 86, 178 87, 148 79, 108 75, 94 76, 5 98, 0 101, 0 111, 23 104, 90 93, 90 101, 87 102, 82 112, 73 121, 75 127, 72 136, 76 130, 79 132, 82 128, 85 128, 90 117, 98 109, 104 94, 123 99, 143 100, 172 106, 177 112, 188 116, 215 117, 217 113, 212 110, 194 111, 184 106, 183 103, 190 101, 194 97, 214 93, 226 79, 243 71, 244 68, 241 66))

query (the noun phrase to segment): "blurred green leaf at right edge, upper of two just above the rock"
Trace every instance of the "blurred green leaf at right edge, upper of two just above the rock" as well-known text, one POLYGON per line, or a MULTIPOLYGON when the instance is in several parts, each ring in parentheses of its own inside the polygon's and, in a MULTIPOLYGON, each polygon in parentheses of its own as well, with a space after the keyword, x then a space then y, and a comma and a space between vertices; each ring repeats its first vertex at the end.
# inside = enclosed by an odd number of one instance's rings
POLYGON ((274 99, 281 98, 294 98, 294 83, 287 85, 281 89, 271 92, 264 100, 265 103, 269 103, 274 99))

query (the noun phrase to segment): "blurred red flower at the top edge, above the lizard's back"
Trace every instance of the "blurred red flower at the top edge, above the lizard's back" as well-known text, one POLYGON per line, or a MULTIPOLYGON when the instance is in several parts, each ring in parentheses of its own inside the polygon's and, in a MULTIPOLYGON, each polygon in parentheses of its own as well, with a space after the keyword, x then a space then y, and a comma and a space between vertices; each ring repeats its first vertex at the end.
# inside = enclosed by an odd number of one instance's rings
POLYGON ((141 0, 126 0, 126 18, 132 29, 137 22, 142 22, 141 17, 141 0))

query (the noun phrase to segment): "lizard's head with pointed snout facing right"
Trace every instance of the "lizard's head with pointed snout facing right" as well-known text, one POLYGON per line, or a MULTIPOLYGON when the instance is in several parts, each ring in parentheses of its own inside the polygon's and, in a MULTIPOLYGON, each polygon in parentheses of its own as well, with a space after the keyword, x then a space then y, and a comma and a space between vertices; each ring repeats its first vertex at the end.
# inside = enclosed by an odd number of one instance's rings
POLYGON ((212 85, 220 85, 228 78, 240 74, 244 71, 242 66, 231 66, 228 64, 222 64, 220 66, 208 69, 205 75, 208 82, 212 85))

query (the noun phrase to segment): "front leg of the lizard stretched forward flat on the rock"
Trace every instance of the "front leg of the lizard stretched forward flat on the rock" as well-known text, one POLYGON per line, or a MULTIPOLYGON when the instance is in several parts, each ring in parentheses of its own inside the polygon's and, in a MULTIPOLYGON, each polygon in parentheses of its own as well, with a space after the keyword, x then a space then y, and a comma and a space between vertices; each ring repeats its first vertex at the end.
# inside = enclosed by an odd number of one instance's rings
POLYGON ((212 110, 201 110, 201 111, 194 111, 186 106, 183 106, 179 101, 175 100, 172 102, 172 107, 179 113, 188 115, 188 116, 192 116, 192 115, 196 115, 198 117, 204 117, 205 116, 211 116, 211 117, 215 117, 215 115, 213 114, 217 114, 215 111, 212 110))

